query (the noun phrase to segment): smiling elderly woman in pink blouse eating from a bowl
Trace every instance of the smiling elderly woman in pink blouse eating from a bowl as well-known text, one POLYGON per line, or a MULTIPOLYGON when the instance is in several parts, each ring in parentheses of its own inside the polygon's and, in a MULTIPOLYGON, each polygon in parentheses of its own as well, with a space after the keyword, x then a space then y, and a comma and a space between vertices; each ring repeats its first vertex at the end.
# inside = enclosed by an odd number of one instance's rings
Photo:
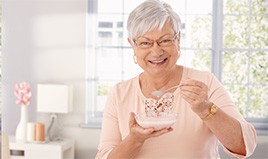
POLYGON ((232 156, 250 156, 255 130, 222 84, 209 72, 176 64, 180 18, 170 5, 145 1, 131 12, 127 25, 134 61, 144 71, 111 90, 96 158, 216 159, 218 141, 232 156), (161 97, 152 95, 174 86, 161 97), (178 113, 172 127, 143 128, 135 118, 167 110, 178 113))

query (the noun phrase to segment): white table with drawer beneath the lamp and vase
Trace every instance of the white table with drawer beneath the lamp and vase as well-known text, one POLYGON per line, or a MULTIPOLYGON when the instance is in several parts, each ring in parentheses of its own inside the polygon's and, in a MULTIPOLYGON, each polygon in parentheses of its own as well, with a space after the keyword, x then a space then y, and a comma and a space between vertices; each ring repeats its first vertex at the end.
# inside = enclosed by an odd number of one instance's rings
POLYGON ((62 141, 47 143, 16 142, 9 136, 11 159, 74 159, 74 140, 64 138, 62 141))

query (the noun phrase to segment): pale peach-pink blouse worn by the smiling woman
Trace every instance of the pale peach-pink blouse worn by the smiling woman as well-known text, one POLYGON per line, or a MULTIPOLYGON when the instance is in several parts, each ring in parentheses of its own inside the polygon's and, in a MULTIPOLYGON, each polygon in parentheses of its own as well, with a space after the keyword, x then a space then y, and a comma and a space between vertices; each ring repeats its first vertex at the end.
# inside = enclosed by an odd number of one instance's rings
MULTIPOLYGON (((240 122, 246 145, 246 157, 250 156, 256 147, 254 127, 241 116, 222 84, 209 72, 183 67, 182 80, 186 78, 205 83, 209 88, 209 100, 240 122)), ((136 159, 220 158, 217 138, 178 92, 177 89, 173 93, 174 111, 178 113, 177 121, 172 126, 174 130, 146 140, 136 159)), ((112 149, 129 134, 129 113, 143 113, 145 99, 140 89, 139 76, 115 85, 108 96, 104 110, 96 159, 106 159, 112 149)), ((245 157, 234 154, 226 148, 224 150, 231 156, 245 157)))

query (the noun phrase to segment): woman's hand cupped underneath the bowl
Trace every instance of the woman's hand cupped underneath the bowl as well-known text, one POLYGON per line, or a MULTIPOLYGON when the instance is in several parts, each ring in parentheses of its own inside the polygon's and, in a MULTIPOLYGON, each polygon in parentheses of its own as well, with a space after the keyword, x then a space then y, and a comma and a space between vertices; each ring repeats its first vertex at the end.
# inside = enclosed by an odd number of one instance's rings
POLYGON ((130 113, 129 117, 129 135, 134 139, 134 141, 143 143, 146 139, 151 137, 161 136, 168 132, 171 132, 173 129, 165 128, 158 131, 154 131, 153 128, 142 128, 135 119, 135 114, 133 112, 130 113))

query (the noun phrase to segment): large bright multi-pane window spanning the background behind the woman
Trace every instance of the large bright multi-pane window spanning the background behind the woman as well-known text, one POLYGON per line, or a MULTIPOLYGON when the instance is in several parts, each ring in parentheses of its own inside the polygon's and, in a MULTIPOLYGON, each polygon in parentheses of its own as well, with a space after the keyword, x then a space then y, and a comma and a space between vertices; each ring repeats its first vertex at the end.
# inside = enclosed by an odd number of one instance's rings
MULTIPOLYGON (((89 0, 86 124, 101 121, 107 92, 114 84, 141 72, 133 62, 126 31, 129 12, 141 2, 89 0)), ((182 20, 178 64, 212 71, 244 117, 267 121, 267 1, 167 2, 182 20)))

